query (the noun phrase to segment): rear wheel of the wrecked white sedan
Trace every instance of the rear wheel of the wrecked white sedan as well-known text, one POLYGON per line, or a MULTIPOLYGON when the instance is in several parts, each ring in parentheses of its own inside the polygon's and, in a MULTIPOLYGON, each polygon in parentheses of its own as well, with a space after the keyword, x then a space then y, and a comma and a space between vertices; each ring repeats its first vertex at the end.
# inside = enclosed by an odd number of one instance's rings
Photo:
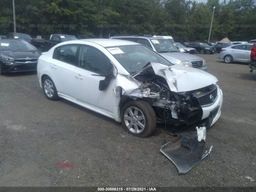
POLYGON ((43 79, 43 91, 46 98, 49 100, 55 101, 59 99, 58 92, 56 90, 56 87, 52 81, 52 79, 48 76, 46 76, 43 79))

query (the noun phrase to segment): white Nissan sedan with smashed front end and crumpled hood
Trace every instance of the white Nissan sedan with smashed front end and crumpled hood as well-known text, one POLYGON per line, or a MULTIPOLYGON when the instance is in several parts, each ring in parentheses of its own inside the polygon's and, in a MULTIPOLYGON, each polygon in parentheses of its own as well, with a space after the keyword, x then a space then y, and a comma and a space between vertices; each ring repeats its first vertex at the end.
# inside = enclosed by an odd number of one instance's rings
POLYGON ((139 137, 150 136, 156 122, 210 127, 221 113, 216 77, 174 65, 136 42, 63 42, 40 56, 37 72, 49 100, 74 102, 122 122, 139 137))

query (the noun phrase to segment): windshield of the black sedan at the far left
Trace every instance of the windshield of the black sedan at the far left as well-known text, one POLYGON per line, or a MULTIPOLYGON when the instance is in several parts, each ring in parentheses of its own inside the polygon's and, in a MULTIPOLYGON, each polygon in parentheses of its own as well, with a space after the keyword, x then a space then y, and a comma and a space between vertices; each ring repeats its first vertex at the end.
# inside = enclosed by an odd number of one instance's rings
POLYGON ((0 40, 0 51, 3 50, 36 50, 36 48, 23 40, 0 40))

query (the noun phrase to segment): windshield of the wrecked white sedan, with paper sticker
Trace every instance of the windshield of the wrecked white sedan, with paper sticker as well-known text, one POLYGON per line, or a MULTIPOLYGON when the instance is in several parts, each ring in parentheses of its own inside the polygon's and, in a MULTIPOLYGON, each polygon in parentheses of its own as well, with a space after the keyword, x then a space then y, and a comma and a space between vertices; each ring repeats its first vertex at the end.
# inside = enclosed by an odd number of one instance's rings
POLYGON ((123 45, 106 49, 130 74, 142 69, 148 62, 157 62, 166 66, 173 65, 152 49, 143 45, 123 45))

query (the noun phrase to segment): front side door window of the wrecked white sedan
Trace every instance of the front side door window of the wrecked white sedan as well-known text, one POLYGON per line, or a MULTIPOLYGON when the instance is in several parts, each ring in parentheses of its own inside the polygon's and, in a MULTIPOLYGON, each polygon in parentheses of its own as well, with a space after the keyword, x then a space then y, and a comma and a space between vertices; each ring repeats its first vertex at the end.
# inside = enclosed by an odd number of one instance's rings
POLYGON ((89 47, 81 46, 79 54, 79 66, 86 70, 107 75, 109 73, 111 62, 99 50, 89 47))

